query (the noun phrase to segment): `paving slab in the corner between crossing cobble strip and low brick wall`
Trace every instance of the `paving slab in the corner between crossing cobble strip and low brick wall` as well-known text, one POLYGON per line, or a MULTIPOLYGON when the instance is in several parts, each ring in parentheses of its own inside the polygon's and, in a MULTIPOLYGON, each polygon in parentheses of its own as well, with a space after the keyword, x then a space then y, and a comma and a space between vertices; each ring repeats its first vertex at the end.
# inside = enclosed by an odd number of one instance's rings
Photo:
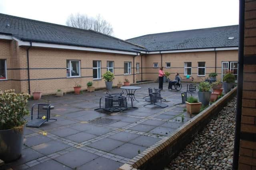
POLYGON ((111 150, 110 153, 124 156, 126 158, 133 158, 138 154, 138 152, 143 152, 145 149, 147 148, 131 143, 126 143, 114 150, 111 150))

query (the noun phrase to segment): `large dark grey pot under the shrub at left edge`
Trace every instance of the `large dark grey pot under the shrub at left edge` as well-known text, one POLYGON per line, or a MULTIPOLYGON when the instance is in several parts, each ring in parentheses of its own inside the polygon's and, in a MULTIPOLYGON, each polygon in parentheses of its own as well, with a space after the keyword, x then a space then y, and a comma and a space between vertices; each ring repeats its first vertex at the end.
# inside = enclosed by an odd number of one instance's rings
POLYGON ((13 129, 0 130, 0 159, 14 161, 21 156, 24 125, 13 129))

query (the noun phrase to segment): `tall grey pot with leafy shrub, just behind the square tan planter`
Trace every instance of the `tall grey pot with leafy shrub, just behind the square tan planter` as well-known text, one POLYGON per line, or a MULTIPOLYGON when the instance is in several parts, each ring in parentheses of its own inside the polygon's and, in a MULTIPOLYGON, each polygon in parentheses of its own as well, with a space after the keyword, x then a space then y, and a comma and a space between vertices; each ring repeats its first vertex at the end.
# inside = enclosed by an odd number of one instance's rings
POLYGON ((211 98, 210 83, 200 82, 198 86, 198 99, 204 106, 208 106, 211 98))

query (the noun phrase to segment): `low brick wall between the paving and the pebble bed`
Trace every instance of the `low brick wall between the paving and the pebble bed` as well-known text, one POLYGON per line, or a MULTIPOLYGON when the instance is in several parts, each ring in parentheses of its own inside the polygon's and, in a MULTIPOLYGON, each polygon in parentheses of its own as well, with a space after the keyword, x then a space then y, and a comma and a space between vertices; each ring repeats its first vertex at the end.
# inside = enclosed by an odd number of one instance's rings
POLYGON ((232 89, 221 99, 176 129, 172 134, 144 150, 118 170, 160 170, 169 164, 193 139, 194 136, 215 117, 226 104, 236 96, 232 89))

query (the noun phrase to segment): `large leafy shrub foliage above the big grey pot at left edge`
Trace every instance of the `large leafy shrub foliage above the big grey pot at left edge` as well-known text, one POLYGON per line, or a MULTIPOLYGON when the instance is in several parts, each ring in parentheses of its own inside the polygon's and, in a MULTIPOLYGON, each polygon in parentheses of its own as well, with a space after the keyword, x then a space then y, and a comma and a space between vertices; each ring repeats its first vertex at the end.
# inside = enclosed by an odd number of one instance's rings
POLYGON ((27 93, 16 94, 15 90, 0 90, 0 130, 24 125, 23 117, 29 113, 26 106, 29 97, 27 93))

